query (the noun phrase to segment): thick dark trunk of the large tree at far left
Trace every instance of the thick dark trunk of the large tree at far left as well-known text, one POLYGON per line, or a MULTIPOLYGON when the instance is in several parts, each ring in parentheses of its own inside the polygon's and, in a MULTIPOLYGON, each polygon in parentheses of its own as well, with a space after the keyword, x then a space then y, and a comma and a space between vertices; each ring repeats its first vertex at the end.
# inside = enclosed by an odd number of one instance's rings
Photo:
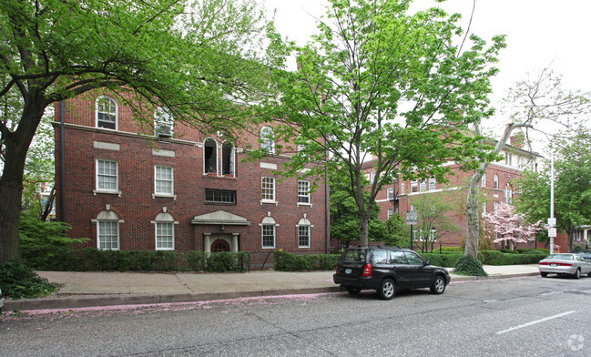
POLYGON ((5 134, 5 167, 0 178, 0 265, 20 259, 18 225, 23 199, 26 153, 41 122, 45 107, 25 101, 23 116, 16 130, 5 134))

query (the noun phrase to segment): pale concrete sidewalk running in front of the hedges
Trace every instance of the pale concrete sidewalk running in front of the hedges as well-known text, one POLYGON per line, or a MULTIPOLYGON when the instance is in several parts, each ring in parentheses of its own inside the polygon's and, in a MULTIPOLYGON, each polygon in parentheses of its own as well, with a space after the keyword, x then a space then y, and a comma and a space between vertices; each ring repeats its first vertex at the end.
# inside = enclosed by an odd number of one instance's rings
MULTIPOLYGON (((452 283, 538 275, 537 264, 484 265, 485 277, 452 275, 452 283)), ((245 273, 202 272, 76 272, 38 271, 61 285, 56 297, 5 301, 5 311, 75 309, 91 306, 211 301, 251 296, 272 296, 341 291, 332 282, 333 271, 245 273)))

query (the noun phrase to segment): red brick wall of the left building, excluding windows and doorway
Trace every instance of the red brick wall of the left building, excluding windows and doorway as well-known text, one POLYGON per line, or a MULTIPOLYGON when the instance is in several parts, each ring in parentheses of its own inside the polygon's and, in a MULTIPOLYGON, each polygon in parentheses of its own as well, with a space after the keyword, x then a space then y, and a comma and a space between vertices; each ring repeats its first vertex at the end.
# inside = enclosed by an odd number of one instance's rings
MULTIPOLYGON (((272 176, 270 168, 260 168, 260 161, 245 161, 244 153, 236 153, 235 176, 221 177, 203 173, 203 138, 197 130, 176 123, 175 138, 160 142, 136 135, 138 126, 132 120, 131 111, 119 103, 118 131, 95 127, 95 98, 80 97, 68 100, 65 110, 65 202, 61 201, 61 156, 60 131, 56 126, 56 212, 57 219, 64 219, 72 225, 68 235, 73 238, 89 238, 89 247, 97 247, 97 224, 99 212, 110 205, 124 222, 119 224, 121 250, 155 250, 155 227, 150 221, 167 208, 178 224, 175 225, 175 250, 203 250, 204 233, 239 233, 239 250, 252 253, 253 263, 260 263, 272 250, 287 250, 303 253, 325 251, 325 208, 324 185, 311 193, 311 206, 298 206, 298 179, 276 179, 276 200, 278 204, 260 203, 261 177, 272 176), (192 141, 195 140, 195 141, 192 141), (95 141, 118 144, 119 149, 95 148, 95 141), (153 149, 160 148, 175 152, 175 157, 153 155, 153 149), (98 158, 117 160, 118 184, 121 196, 117 194, 93 193, 96 189, 96 160, 98 158), (154 165, 162 164, 174 170, 173 198, 153 197, 154 165), (205 203, 205 189, 235 190, 237 204, 205 203), (193 225, 191 219, 206 213, 224 210, 250 221, 249 226, 193 225), (260 223, 264 217, 275 219, 276 248, 262 249, 260 223), (311 221, 311 247, 299 248, 296 225, 304 214, 311 221)), ((59 120, 59 106, 56 106, 56 120, 59 120)), ((151 135, 153 129, 145 134, 151 135)), ((256 133, 258 134, 258 133, 256 133)), ((213 137, 215 138, 215 137, 213 137)), ((247 138, 252 143, 257 138, 247 138)), ((217 139, 219 148, 221 140, 217 139)), ((237 150, 239 151, 239 149, 237 150)), ((218 158, 221 157, 219 149, 218 158)), ((285 156, 262 158, 261 162, 281 165, 289 160, 285 156)))

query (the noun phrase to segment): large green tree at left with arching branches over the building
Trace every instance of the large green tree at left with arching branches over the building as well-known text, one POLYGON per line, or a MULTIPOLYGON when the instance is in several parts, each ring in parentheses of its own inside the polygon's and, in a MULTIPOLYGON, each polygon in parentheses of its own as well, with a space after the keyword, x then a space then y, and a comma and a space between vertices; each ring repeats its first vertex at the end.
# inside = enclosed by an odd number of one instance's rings
POLYGON ((145 123, 162 106, 229 133, 280 65, 255 0, 3 0, 0 38, 0 263, 20 254, 25 157, 47 108, 106 90, 145 123))

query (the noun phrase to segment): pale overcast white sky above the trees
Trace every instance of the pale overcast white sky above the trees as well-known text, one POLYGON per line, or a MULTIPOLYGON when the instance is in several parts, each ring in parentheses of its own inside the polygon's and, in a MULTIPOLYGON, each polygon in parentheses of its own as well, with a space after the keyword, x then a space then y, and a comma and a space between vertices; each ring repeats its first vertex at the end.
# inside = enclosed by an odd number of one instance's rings
MULTIPOLYGON (((275 24, 282 36, 305 44, 316 33, 315 18, 324 14, 324 0, 265 0, 277 9, 275 24)), ((500 106, 506 89, 527 73, 535 75, 547 66, 563 76, 568 89, 591 87, 591 0, 476 0, 470 32, 490 43, 494 35, 506 35, 507 48, 499 57, 500 73, 493 79, 494 107, 500 106)), ((462 14, 464 29, 474 0, 414 0, 413 7, 443 7, 462 14)), ((497 120, 503 120, 497 118, 497 120)))

